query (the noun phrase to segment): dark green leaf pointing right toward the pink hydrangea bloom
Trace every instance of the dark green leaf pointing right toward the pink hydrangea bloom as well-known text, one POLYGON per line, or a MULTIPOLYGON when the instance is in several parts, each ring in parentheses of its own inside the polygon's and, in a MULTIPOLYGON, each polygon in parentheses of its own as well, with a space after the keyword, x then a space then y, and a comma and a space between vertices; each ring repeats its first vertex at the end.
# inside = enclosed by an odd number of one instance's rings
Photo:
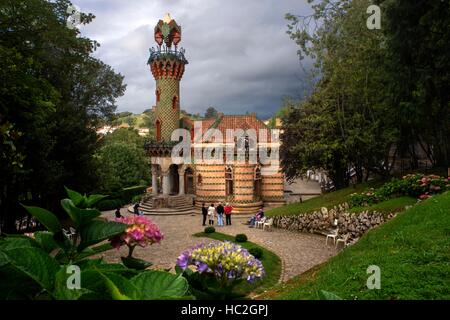
POLYGON ((80 230, 81 243, 77 250, 81 252, 90 245, 118 235, 124 232, 127 227, 128 225, 120 222, 92 220, 80 230))

